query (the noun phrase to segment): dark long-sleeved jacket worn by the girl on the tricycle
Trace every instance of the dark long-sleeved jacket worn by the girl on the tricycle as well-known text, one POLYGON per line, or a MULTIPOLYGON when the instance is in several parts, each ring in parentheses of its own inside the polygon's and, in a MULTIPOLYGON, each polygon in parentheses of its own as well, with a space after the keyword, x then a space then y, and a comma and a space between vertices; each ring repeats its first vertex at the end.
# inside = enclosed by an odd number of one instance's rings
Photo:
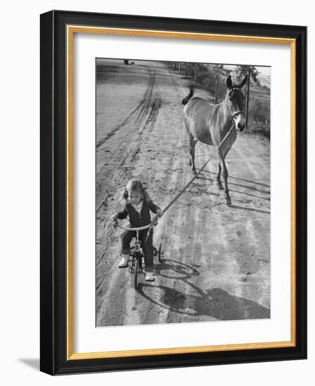
POLYGON ((160 210, 160 208, 155 205, 153 201, 146 201, 146 199, 143 199, 140 213, 136 211, 134 206, 132 206, 130 203, 127 203, 122 211, 118 212, 118 218, 122 220, 129 216, 131 227, 144 227, 151 222, 150 211, 153 213, 158 213, 158 210, 160 210))

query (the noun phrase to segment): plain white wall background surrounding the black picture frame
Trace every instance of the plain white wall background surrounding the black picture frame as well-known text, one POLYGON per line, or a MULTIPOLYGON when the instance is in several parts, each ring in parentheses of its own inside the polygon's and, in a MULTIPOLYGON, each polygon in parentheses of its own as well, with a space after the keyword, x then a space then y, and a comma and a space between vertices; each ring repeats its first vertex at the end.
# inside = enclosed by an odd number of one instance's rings
MULTIPOLYGON (((315 366, 314 237, 309 237, 309 359, 53 378, 39 373, 39 14, 51 9, 235 20, 309 27, 309 144, 315 134, 311 1, 10 1, 0 23, 0 379, 4 385, 313 385, 315 366)), ((315 152, 309 147, 309 169, 315 152)), ((314 232, 314 173, 309 172, 309 235, 314 232)))

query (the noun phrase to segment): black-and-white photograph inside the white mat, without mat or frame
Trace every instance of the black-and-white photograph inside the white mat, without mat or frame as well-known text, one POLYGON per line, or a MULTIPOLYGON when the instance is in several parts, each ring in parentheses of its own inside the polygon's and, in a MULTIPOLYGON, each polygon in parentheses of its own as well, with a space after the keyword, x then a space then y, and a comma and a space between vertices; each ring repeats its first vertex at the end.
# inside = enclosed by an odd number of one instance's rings
POLYGON ((96 326, 269 319, 271 67, 96 58, 96 326))

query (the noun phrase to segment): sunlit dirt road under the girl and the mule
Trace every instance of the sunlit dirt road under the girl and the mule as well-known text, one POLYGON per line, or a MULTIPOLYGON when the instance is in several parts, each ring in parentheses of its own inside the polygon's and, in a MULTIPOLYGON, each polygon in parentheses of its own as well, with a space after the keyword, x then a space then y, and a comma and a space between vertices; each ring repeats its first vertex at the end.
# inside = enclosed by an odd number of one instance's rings
MULTIPOLYGON (((147 183, 161 208, 193 177, 181 99, 187 82, 162 63, 99 60, 96 88, 96 325, 270 317, 269 141, 238 134, 226 157, 232 206, 214 182, 217 159, 160 219, 155 282, 139 292, 118 269, 117 191, 147 183)), ((198 93, 196 93, 198 95, 198 93)), ((213 152, 196 145, 196 168, 213 152)))

